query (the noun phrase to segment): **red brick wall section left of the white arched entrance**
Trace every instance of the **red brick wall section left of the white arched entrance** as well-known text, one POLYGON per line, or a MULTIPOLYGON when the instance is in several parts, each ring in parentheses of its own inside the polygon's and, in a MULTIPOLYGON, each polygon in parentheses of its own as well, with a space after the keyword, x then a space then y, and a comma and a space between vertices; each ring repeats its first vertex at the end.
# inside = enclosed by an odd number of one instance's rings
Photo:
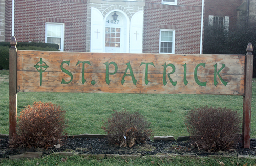
MULTIPOLYGON (((12 0, 6 1, 5 41, 11 38, 12 0)), ((86 50, 86 9, 82 0, 15 1, 14 36, 17 41, 45 42, 45 23, 65 23, 65 51, 86 50)))

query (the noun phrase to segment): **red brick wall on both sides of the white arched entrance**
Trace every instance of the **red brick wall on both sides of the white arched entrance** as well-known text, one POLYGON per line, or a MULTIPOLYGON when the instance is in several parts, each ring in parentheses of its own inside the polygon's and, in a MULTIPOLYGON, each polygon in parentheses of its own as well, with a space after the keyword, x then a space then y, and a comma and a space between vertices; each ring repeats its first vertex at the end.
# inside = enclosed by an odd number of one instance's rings
MULTIPOLYGON (((5 41, 11 38, 11 1, 6 0, 5 41)), ((64 51, 86 51, 86 9, 83 0, 15 1, 17 41, 45 42, 45 23, 65 23, 64 51)), ((175 29, 175 53, 199 54, 201 0, 178 0, 178 5, 163 5, 146 0, 143 53, 159 52, 160 29, 175 29)))

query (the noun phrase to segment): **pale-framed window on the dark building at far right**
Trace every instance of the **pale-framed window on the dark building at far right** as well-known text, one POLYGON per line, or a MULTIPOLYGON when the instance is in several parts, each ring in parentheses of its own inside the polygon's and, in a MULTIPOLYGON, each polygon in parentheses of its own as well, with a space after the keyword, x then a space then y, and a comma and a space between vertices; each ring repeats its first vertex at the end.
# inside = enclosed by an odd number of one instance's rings
POLYGON ((209 25, 214 26, 218 30, 227 30, 229 28, 229 17, 218 17, 209 15, 209 25))

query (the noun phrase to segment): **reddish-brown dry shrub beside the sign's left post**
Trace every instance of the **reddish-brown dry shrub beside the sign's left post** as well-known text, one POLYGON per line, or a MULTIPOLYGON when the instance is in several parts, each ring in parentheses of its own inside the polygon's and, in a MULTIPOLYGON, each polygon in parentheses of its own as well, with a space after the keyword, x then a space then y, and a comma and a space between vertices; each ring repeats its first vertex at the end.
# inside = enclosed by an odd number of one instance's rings
POLYGON ((10 140, 10 146, 48 148, 61 144, 67 135, 65 113, 51 102, 28 105, 18 117, 17 135, 10 140))

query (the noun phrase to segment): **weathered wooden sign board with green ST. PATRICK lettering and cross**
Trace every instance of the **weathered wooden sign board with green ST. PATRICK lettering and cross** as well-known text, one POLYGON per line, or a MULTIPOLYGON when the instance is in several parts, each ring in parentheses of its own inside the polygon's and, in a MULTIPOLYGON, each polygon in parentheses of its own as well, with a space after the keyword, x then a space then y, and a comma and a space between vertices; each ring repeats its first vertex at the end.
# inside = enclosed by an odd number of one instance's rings
POLYGON ((244 55, 19 50, 17 86, 18 92, 243 95, 244 61, 244 55))

